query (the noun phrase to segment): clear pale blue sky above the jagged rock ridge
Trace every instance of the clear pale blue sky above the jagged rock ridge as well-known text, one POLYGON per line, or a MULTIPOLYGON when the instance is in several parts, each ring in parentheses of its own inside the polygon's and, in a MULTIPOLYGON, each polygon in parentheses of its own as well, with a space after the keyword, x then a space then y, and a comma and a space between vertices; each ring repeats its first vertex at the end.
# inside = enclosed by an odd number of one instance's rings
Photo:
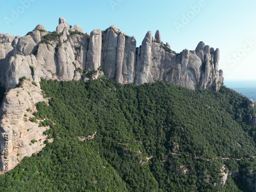
POLYGON ((220 49, 225 79, 256 79, 255 0, 0 0, 0 33, 23 36, 38 24, 54 31, 59 17, 88 33, 116 25, 137 47, 156 30, 176 52, 204 41, 220 49))

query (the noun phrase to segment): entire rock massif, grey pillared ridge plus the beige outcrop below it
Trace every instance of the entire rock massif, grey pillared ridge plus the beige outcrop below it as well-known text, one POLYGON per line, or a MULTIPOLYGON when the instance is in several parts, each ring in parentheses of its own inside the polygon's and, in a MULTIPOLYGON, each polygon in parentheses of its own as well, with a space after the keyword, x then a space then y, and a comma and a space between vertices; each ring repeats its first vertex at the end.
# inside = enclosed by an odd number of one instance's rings
POLYGON ((0 115, 0 167, 5 135, 9 168, 44 147, 42 132, 46 128, 24 119, 25 113, 33 117, 26 109, 33 108, 38 101, 47 101, 40 94, 41 78, 87 81, 105 76, 122 84, 164 81, 192 90, 218 91, 223 83, 219 59, 219 49, 205 46, 202 41, 195 51, 185 49, 176 53, 168 42, 163 44, 157 30, 155 38, 148 31, 137 48, 135 37, 127 36, 114 25, 104 31, 93 30, 89 35, 78 25, 70 26, 64 18, 59 18, 54 32, 37 25, 23 37, 0 33, 0 82, 9 91, 0 115), (23 88, 16 88, 24 76, 38 87, 25 81, 23 88))

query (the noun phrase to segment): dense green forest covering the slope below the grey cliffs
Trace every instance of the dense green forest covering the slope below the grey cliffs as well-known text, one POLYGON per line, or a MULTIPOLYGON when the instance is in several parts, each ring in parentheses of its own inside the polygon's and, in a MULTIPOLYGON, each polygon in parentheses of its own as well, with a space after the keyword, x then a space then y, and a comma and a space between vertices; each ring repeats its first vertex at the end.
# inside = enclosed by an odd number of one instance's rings
POLYGON ((256 127, 247 98, 223 86, 42 79, 46 147, 9 171, 0 191, 253 191, 256 127), (95 134, 95 135, 94 135, 95 134), (88 136, 94 137, 92 139, 88 136), (221 185, 221 168, 229 173, 221 185), (230 174, 231 173, 231 174, 230 174))

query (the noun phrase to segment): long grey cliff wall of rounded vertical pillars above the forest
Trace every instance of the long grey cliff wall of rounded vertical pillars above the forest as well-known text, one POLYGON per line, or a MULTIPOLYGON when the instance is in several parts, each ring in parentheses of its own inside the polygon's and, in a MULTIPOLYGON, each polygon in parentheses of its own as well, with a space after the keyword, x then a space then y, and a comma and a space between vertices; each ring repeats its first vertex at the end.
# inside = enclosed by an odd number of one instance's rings
POLYGON ((195 51, 176 53, 163 44, 157 30, 148 31, 142 45, 116 26, 84 34, 59 18, 55 32, 42 25, 24 37, 0 34, 0 81, 7 90, 20 77, 35 82, 40 78, 58 80, 94 79, 105 74, 120 83, 165 81, 189 89, 219 90, 223 72, 218 70, 219 49, 200 42, 195 51))

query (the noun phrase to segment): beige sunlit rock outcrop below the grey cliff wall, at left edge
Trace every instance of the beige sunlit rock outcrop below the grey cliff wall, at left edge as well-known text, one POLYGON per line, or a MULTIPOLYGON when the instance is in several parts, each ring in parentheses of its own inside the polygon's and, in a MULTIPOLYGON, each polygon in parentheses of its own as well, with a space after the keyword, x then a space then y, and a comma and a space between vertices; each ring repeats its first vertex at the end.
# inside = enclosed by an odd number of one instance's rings
POLYGON ((31 122, 36 111, 35 103, 46 101, 41 89, 25 80, 22 88, 10 90, 2 103, 0 119, 0 169, 8 160, 8 170, 25 156, 38 153, 45 146, 47 136, 42 133, 48 127, 39 127, 39 122, 31 122), (26 111, 28 110, 28 111, 26 111), (5 156, 7 157, 5 159, 5 156))

